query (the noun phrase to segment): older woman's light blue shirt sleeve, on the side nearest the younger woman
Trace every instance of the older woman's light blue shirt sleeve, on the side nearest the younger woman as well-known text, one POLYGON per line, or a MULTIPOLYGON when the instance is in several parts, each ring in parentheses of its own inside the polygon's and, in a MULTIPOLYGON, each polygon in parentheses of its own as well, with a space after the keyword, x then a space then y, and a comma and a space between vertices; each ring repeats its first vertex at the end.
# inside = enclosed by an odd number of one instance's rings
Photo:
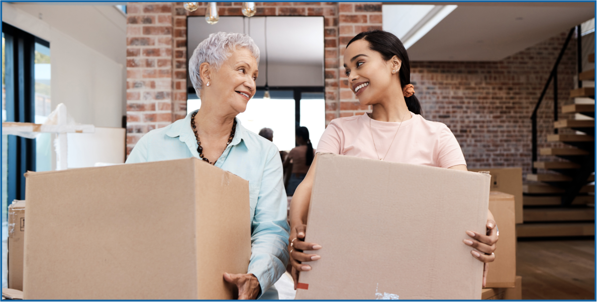
POLYGON ((282 161, 278 149, 273 147, 267 155, 255 216, 251 223, 251 261, 248 273, 259 280, 260 296, 286 271, 290 236, 290 226, 286 220, 287 203, 282 183, 282 161))

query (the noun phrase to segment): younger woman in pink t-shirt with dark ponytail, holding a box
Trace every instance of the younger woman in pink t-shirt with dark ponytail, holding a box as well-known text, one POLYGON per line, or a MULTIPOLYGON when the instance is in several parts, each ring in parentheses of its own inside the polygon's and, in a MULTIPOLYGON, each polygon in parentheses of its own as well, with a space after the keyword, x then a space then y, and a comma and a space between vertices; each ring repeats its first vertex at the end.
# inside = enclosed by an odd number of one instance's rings
MULTIPOLYGON (((350 89, 362 105, 373 105, 373 112, 333 120, 319 139, 318 153, 466 171, 464 155, 450 129, 421 116, 421 105, 410 83, 408 54, 396 36, 381 30, 359 33, 346 46, 344 68, 350 89)), ((322 248, 304 242, 315 166, 313 161, 290 206, 288 250, 295 289, 298 273, 311 269, 309 261, 321 259, 317 254, 302 253, 322 248)), ((487 263, 495 259, 497 242, 496 222, 491 212, 486 233, 466 233, 470 239, 463 244, 474 248, 470 252, 472 257, 485 263, 485 287, 487 263)))

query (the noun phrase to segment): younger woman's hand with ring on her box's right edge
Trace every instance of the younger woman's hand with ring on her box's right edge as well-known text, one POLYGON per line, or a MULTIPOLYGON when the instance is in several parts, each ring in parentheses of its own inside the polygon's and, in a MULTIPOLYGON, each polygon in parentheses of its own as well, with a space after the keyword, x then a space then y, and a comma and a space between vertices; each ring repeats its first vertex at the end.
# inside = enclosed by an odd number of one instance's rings
POLYGON ((497 229, 496 229, 496 222, 493 220, 493 215, 487 219, 487 225, 485 225, 487 231, 485 235, 466 231, 466 235, 469 235, 472 239, 464 239, 463 242, 469 247, 475 248, 475 250, 470 251, 470 253, 475 257, 477 260, 484 263, 483 267, 483 287, 485 288, 485 281, 487 280, 487 272, 489 270, 489 263, 496 260, 496 255, 493 253, 496 250, 496 243, 497 243, 497 229))

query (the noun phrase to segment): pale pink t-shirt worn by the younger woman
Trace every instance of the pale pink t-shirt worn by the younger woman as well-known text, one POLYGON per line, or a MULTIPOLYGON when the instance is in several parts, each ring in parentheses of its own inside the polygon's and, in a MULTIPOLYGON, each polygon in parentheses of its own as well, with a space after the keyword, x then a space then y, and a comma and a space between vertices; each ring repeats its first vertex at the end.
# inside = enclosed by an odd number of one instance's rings
POLYGON ((384 160, 396 163, 442 168, 466 165, 458 141, 445 124, 430 122, 412 112, 411 119, 402 122, 396 133, 399 124, 373 120, 367 114, 335 119, 319 139, 317 152, 375 160, 383 158, 387 152, 384 160), (395 134, 396 138, 392 143, 395 134))

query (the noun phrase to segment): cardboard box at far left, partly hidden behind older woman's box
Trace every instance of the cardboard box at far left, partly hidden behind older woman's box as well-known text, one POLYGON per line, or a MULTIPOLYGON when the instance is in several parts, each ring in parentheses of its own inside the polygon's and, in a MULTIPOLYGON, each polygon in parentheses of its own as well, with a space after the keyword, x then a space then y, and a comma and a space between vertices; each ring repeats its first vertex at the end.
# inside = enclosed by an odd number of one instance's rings
POLYGON ((23 290, 23 242, 25 239, 25 201, 8 206, 8 288, 23 290))

